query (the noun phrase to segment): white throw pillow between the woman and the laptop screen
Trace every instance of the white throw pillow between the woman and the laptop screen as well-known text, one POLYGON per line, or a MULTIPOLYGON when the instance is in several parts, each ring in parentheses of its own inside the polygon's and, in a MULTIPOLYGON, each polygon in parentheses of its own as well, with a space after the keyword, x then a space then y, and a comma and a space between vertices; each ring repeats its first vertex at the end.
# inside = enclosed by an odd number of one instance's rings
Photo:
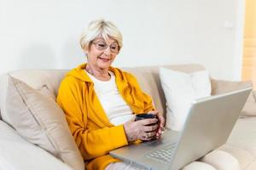
POLYGON ((185 73, 160 67, 160 82, 166 96, 166 127, 180 131, 194 99, 211 95, 206 70, 185 73))

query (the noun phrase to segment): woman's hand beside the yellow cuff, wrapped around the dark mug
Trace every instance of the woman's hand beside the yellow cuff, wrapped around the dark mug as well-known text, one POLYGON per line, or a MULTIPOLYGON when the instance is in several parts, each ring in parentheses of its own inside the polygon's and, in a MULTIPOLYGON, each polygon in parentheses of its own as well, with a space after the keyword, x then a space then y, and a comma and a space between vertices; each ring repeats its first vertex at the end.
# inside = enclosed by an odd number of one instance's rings
POLYGON ((131 120, 124 124, 125 134, 128 142, 135 141, 137 139, 141 140, 151 140, 155 138, 158 128, 158 119, 143 119, 134 122, 131 120), (153 125, 150 125, 153 124, 153 125), (148 126, 149 125, 149 126, 148 126))

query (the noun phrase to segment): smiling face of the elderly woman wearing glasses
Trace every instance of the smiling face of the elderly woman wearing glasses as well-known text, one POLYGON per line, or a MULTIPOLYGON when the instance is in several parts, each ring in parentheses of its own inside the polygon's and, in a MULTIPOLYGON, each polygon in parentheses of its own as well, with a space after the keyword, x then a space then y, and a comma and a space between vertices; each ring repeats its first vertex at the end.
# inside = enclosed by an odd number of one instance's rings
POLYGON ((111 37, 108 38, 108 41, 97 37, 90 42, 88 50, 84 49, 84 53, 87 54, 88 65, 95 69, 108 70, 119 53, 119 44, 111 37))

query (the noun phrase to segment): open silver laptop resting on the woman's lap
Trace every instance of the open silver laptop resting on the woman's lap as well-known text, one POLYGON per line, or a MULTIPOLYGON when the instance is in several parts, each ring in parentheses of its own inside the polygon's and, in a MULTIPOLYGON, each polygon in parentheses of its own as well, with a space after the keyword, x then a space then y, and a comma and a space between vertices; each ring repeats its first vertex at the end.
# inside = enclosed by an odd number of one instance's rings
POLYGON ((110 155, 144 169, 180 169, 226 143, 251 90, 196 99, 181 132, 166 130, 158 140, 121 147, 110 155))

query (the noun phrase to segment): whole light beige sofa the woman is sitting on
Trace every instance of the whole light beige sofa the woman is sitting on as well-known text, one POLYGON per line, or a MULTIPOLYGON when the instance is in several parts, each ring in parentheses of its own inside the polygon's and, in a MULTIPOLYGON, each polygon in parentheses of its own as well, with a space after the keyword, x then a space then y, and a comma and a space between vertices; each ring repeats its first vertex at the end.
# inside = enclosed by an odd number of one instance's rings
MULTIPOLYGON (((186 73, 205 69, 202 65, 164 66, 186 73)), ((155 107, 165 116, 166 99, 160 85, 159 68, 160 66, 144 66, 124 68, 124 70, 131 72, 137 77, 137 81, 143 91, 153 97, 155 107)), ((6 111, 8 76, 26 82, 26 84, 38 90, 47 98, 55 99, 61 79, 66 73, 67 70, 21 70, 10 71, 0 77, 0 169, 76 169, 54 156, 48 150, 44 150, 37 144, 29 142, 6 118, 9 114, 6 111)), ((216 95, 240 88, 247 88, 252 86, 252 83, 229 82, 211 78, 211 85, 212 95, 216 95)), ((248 99, 245 107, 247 105, 250 108, 254 107, 256 105, 255 99, 253 97, 248 99)), ((247 110, 250 110, 250 108, 247 108, 247 110)), ((216 150, 212 150, 212 152, 200 160, 191 162, 186 167, 183 167, 183 169, 256 169, 256 117, 253 115, 253 111, 247 113, 247 110, 242 112, 226 144, 216 150)))

